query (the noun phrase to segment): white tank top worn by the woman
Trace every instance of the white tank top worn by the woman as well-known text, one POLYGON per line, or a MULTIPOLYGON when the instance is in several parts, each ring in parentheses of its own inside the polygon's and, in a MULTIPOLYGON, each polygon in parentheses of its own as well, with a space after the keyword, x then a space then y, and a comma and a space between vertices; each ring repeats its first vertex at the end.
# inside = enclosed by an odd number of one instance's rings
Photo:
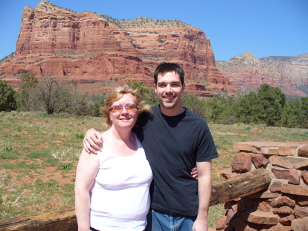
POLYGON ((90 197, 90 226, 97 230, 144 230, 150 207, 149 188, 153 178, 144 149, 137 136, 133 156, 116 156, 104 143, 99 171, 90 197))

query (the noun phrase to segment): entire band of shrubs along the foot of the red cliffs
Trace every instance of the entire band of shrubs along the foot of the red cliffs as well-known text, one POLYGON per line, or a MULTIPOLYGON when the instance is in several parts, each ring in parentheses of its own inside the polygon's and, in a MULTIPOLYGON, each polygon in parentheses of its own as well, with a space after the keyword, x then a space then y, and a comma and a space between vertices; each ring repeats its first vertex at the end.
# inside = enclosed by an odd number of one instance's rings
MULTIPOLYGON (((75 115, 101 117, 105 96, 80 95, 75 82, 60 83, 54 77, 42 77, 34 73, 21 76, 21 92, 0 80, 0 111, 44 111, 47 114, 66 112, 75 115)), ((147 104, 158 104, 153 88, 141 82, 129 82, 138 88, 147 104)), ((308 128, 308 97, 286 101, 280 88, 262 84, 257 93, 241 97, 197 97, 184 93, 181 104, 190 108, 208 123, 254 123, 268 126, 308 128)))

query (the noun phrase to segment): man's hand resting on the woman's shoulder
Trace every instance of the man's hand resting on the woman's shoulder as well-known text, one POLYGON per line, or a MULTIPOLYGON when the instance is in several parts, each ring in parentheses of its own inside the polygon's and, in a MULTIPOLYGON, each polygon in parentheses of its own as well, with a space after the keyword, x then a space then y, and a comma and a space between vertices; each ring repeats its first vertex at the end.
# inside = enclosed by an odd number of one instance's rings
POLYGON ((97 154, 97 151, 101 151, 103 147, 103 138, 101 132, 94 128, 90 128, 84 136, 84 149, 88 154, 97 154))

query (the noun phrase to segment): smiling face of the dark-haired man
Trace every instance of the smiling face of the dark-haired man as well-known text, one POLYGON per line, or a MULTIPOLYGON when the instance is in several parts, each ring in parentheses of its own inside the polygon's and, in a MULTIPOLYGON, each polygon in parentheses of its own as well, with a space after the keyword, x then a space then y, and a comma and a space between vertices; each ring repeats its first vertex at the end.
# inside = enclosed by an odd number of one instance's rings
POLYGON ((157 75, 155 93, 162 110, 179 110, 181 108, 180 101, 184 87, 185 84, 181 84, 181 78, 175 71, 157 75))

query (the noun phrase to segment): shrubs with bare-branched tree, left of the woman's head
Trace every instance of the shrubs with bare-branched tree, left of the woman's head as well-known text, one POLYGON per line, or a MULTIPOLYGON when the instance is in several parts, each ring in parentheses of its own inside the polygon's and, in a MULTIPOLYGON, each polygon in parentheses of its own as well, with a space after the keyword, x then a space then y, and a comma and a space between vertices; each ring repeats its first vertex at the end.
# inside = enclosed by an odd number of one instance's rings
POLYGON ((55 77, 38 80, 34 73, 24 73, 21 82, 21 91, 16 93, 12 86, 0 80, 0 112, 20 110, 101 116, 105 97, 80 95, 75 82, 59 82, 55 77))

